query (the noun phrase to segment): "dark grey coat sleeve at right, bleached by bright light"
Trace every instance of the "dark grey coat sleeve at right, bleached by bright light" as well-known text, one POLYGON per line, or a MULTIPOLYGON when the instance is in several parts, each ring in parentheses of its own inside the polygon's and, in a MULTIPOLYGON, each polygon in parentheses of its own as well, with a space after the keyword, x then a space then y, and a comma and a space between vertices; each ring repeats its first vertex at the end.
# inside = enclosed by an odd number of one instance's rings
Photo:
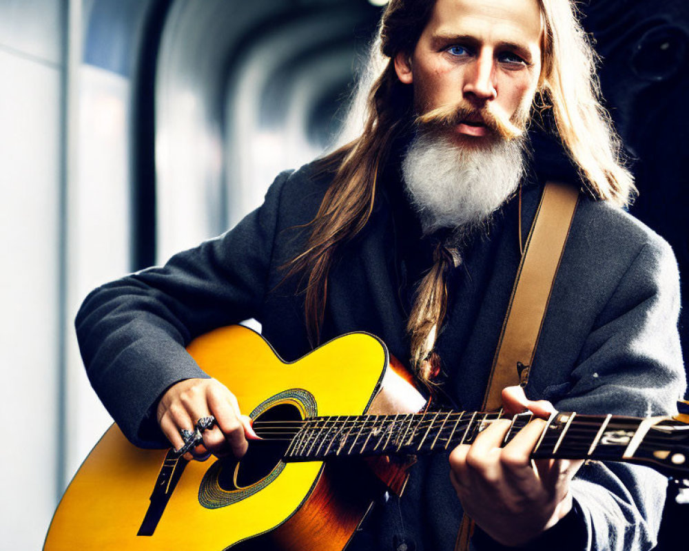
MULTIPOLYGON (((590 332, 561 411, 674 415, 686 382, 677 331, 679 273, 652 236, 622 276, 590 332)), ((644 466, 593 462, 571 490, 592 550, 655 546, 667 482, 644 466)))

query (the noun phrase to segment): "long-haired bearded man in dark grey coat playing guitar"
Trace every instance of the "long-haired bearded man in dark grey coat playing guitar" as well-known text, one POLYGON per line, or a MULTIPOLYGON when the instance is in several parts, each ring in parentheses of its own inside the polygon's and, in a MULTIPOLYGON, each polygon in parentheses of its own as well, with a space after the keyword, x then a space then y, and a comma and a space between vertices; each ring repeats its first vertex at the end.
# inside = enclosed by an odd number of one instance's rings
MULTIPOLYGON (((356 139, 280 174, 232 231, 85 301, 85 364, 125 435, 181 448, 180 430, 214 415, 192 455, 243 455, 247 412, 184 346, 247 318, 285 360, 349 331, 376 334, 440 402, 480 408, 520 236, 554 177, 582 196, 526 394, 509 388, 504 405, 670 413, 684 385, 677 266, 620 208, 633 183, 593 59, 569 0, 392 0, 356 139), (529 124, 557 138, 573 169, 531 152, 529 124)), ((382 497, 349 548, 450 550, 463 511, 477 549, 655 545, 663 477, 562 459, 535 468, 544 422, 500 448, 508 425, 491 424, 449 460, 420 460, 402 498, 382 497)))

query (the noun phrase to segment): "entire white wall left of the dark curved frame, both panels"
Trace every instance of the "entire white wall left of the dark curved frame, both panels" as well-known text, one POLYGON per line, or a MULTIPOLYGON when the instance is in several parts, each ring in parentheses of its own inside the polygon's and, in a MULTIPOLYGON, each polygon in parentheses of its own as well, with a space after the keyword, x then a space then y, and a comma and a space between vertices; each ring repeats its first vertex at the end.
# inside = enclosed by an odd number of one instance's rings
POLYGON ((0 431, 13 433, 0 550, 41 548, 64 485, 112 422, 73 320, 86 293, 130 267, 131 83, 81 64, 80 7, 0 0, 0 431))

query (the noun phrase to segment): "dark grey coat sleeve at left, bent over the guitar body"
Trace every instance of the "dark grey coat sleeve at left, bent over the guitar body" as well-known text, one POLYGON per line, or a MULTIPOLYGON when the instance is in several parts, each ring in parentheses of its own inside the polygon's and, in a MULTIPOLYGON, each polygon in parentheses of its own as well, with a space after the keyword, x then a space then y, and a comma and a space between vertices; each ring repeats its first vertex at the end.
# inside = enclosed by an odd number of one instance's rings
POLYGON ((163 267, 105 284, 83 302, 76 335, 86 372, 133 444, 164 446, 151 415, 158 397, 178 381, 207 377, 185 351, 189 341, 218 326, 260 321, 289 174, 280 174, 263 205, 231 231, 163 267))

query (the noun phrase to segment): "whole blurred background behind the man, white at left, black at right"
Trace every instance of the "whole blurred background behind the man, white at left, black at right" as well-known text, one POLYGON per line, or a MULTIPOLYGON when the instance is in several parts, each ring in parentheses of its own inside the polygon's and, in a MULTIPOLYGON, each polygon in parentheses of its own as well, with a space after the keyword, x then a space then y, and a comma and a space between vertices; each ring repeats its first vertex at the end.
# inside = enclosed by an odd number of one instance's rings
MULTIPOLYGON (((112 422, 76 348, 81 300, 232 227, 331 146, 385 1, 0 0, 0 548, 41 547, 112 422)), ((689 280, 689 3, 581 8, 633 160, 631 211, 689 280)), ((658 549, 689 518, 668 503, 658 549)))

